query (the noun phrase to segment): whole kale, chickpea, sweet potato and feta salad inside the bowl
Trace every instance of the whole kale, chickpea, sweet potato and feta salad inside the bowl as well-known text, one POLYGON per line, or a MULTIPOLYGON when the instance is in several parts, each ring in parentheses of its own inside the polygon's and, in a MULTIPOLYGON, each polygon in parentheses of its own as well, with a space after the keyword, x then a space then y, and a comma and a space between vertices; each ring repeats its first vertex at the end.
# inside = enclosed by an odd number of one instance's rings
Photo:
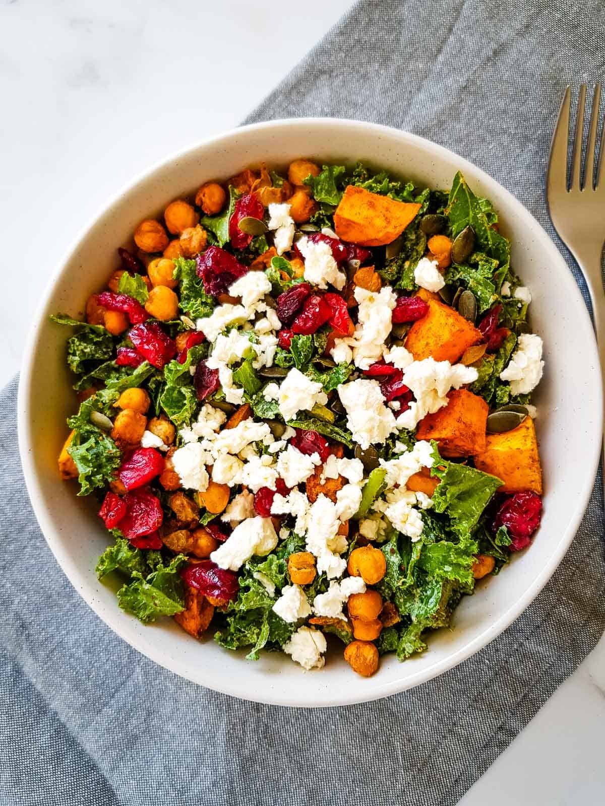
MULTIPOLYGON (((498 214, 364 164, 207 182, 86 302, 60 476, 145 623, 359 675, 532 542, 542 341, 498 214), (327 638, 328 637, 328 638, 327 638)), ((111 257, 111 256, 110 256, 111 257)))

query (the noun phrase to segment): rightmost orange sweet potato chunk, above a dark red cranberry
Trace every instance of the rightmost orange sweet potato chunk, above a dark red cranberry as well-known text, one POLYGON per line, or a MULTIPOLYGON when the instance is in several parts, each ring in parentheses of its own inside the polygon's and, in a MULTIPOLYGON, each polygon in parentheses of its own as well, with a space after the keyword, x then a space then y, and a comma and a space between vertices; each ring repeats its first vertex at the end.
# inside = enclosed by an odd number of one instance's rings
POLYGON ((542 494, 542 467, 531 417, 511 431, 487 434, 486 447, 474 457, 475 467, 504 482, 498 492, 542 494))

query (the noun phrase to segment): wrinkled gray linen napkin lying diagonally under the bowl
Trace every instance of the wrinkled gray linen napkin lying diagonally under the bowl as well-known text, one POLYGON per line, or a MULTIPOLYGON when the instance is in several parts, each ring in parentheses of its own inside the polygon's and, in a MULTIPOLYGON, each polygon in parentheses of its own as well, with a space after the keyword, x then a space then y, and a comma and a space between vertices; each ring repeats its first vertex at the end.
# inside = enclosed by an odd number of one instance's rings
MULTIPOLYGON (((415 131, 548 227, 553 115, 567 81, 603 71, 604 45, 592 3, 364 0, 249 120, 328 114, 415 131)), ((595 491, 545 590, 439 679, 303 712, 198 688, 131 650, 56 565, 23 484, 15 393, 15 381, 0 393, 2 804, 455 804, 603 632, 595 491)))

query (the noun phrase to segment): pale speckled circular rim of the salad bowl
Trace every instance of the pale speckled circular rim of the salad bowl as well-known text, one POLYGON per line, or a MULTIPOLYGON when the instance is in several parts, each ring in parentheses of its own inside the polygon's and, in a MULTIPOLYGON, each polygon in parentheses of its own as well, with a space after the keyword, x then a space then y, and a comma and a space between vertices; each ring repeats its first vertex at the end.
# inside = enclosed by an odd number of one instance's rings
MULTIPOLYGON (((584 351, 592 351, 594 356, 594 364, 595 367, 598 368, 597 375, 599 376, 597 380, 600 379, 601 376, 601 368, 599 364, 599 357, 598 351, 596 347, 596 340, 594 331, 592 329, 592 324, 590 322, 590 314, 586 308, 586 304, 582 299, 582 295, 578 288, 576 281, 574 280, 573 275, 570 272, 569 266, 566 264, 563 256, 561 255, 560 251, 557 249, 556 244, 553 242, 553 239, 550 238, 549 234, 545 231, 544 227, 540 225, 540 222, 534 218, 534 216, 527 210, 527 208, 519 202, 519 200, 513 196, 513 194, 508 191, 503 185, 496 180, 494 180, 488 173, 482 170, 482 168, 478 168, 477 165, 471 163, 469 160, 466 160, 464 157, 457 155, 456 152, 451 151, 449 148, 439 145, 438 143, 433 143, 431 140, 428 140, 424 137, 420 137, 419 135, 412 134, 408 131, 401 131, 394 127, 384 126, 379 123, 369 123, 365 121, 353 120, 348 118, 324 118, 324 117, 308 117, 308 118, 279 118, 277 120, 265 121, 262 123, 251 123, 246 126, 232 128, 228 131, 223 131, 219 133, 219 135, 213 135, 210 138, 198 140, 193 144, 190 144, 186 147, 182 147, 176 153, 165 157, 162 160, 158 160, 155 164, 152 165, 151 168, 147 168, 146 170, 140 172, 134 179, 127 182, 122 188, 116 193, 111 200, 107 202, 105 205, 102 206, 101 210, 98 211, 97 214, 92 216, 86 226, 81 228, 81 231, 77 235, 77 237, 73 240, 72 245, 65 251, 63 258, 57 264, 55 270, 52 272, 52 276, 47 282, 47 285, 44 289, 44 294, 40 299, 40 304, 36 307, 35 310, 35 318, 34 318, 34 326, 31 328, 27 343, 25 345, 25 358, 23 360, 23 367, 21 369, 19 375, 19 391, 18 391, 18 398, 17 398, 17 421, 18 421, 18 436, 19 436, 19 453, 21 457, 21 463, 23 467, 23 476, 25 478, 27 492, 30 496, 31 505, 34 509, 35 517, 39 523, 40 530, 42 534, 44 534, 44 539, 48 543, 48 546, 52 550, 52 554, 54 555, 57 563, 62 571, 64 571, 65 575, 67 576, 70 583, 73 584, 73 587, 76 591, 80 594, 82 599, 86 601, 86 604, 90 606, 90 608, 97 614, 105 624, 110 627, 116 634, 123 638, 130 646, 133 646, 137 651, 141 654, 144 654, 146 657, 151 659, 154 663, 157 663, 159 666, 164 667, 168 671, 172 671, 173 673, 185 677, 190 681, 197 683, 198 685, 204 685, 207 688, 211 688, 216 692, 221 692, 223 694, 227 694, 229 696, 236 696, 239 699, 245 700, 253 700, 265 704, 273 704, 279 706, 286 706, 286 707, 297 707, 297 708, 315 708, 315 707, 336 707, 340 705, 347 705, 347 704, 354 704, 359 702, 365 702, 369 700, 378 700, 385 696, 390 696, 396 694, 398 692, 403 692, 409 688, 414 688, 415 686, 419 685, 420 683, 425 683, 430 679, 435 678, 436 676, 443 674, 445 671, 449 671, 453 667, 456 667, 459 663, 462 663, 464 660, 468 659, 479 650, 481 650, 484 646, 497 638, 499 634, 503 632, 504 629, 507 629, 509 625, 517 617, 524 612, 525 609, 532 603, 532 601, 536 598, 536 596, 540 593, 542 588, 544 588, 545 584, 549 581, 551 576, 553 575, 554 571, 556 571, 557 567, 561 563, 561 560, 565 556, 566 551, 569 549, 570 544, 578 530, 578 526, 580 521, 582 520, 582 516, 586 511, 586 506, 588 505, 588 501, 590 499, 590 494, 592 492, 592 488, 594 485, 594 480, 597 472, 597 468, 599 465, 599 455, 601 450, 601 440, 599 436, 599 432, 603 430, 603 386, 601 383, 595 383, 595 391, 596 391, 596 399, 595 399, 595 430, 598 430, 598 438, 593 442, 593 448, 591 451, 591 455, 586 457, 586 476, 585 476, 585 484, 582 490, 582 494, 576 496, 574 500, 574 509, 573 513, 570 515, 570 524, 565 530, 565 532, 561 535, 559 543, 556 547, 556 550, 553 551, 553 555, 542 569, 540 573, 536 575, 535 579, 533 580, 532 584, 528 586, 522 596, 515 601, 514 605, 511 605, 504 613, 502 613, 495 621, 493 621, 490 625, 486 626, 486 629, 482 631, 482 633, 478 634, 474 640, 465 644, 465 646, 461 647, 461 649, 453 652, 452 654, 448 654, 447 657, 444 659, 440 659, 436 661, 436 663, 428 665, 422 671, 417 671, 411 675, 408 675, 405 679, 395 679, 388 683, 381 683, 379 676, 374 678, 374 684, 371 688, 368 688, 367 696, 362 695, 359 696, 347 696, 346 692, 342 692, 336 697, 333 697, 331 702, 304 702, 301 703, 297 701, 294 697, 280 697, 280 701, 276 702, 271 696, 263 696, 263 692, 245 692, 242 693, 237 686, 231 684, 231 680, 226 679, 211 679, 211 680, 204 680, 203 682, 200 679, 194 678, 192 675, 187 673, 187 669, 185 667, 180 667, 179 663, 176 659, 169 659, 165 656, 163 651, 151 641, 133 641, 130 636, 126 636, 124 634, 123 629, 120 628, 119 624, 115 624, 113 619, 111 618, 110 613, 105 613, 102 610, 102 607, 98 604, 98 601, 95 600, 94 596, 90 596, 89 592, 86 590, 82 590, 78 588, 72 582, 72 573, 76 572, 75 564, 73 563, 69 552, 64 550, 60 543, 60 534, 59 531, 52 523, 52 518, 50 517, 48 510, 42 505, 41 501, 43 500, 43 496, 41 494, 40 488, 40 481, 37 478, 35 472, 35 466, 32 459, 32 451, 31 451, 31 426, 29 422, 29 409, 27 405, 27 401, 30 399, 31 396, 31 388, 33 383, 32 377, 32 367, 34 364, 34 347, 35 343, 39 338, 39 331, 40 328, 44 324, 44 312, 48 306, 49 298, 52 295, 53 289, 56 286, 57 281, 60 279, 62 272, 64 272, 65 267, 69 262, 73 259, 75 253, 81 248, 81 246, 86 242, 86 238, 88 237, 90 230, 93 226, 98 222, 102 216, 109 214, 111 209, 119 203, 121 198, 126 194, 131 192, 131 190, 135 189, 137 185, 141 182, 147 181, 152 178, 153 174, 161 171, 165 168, 169 167, 169 164, 174 163, 177 160, 185 156, 189 156, 191 152, 197 151, 203 147, 211 147, 213 145, 218 145, 219 143, 223 143, 224 141, 228 141, 232 139, 234 136, 240 134, 247 134, 248 132, 254 131, 264 131, 267 129, 278 128, 278 127, 291 127, 291 128, 305 128, 305 127, 325 127, 325 128, 340 128, 343 130, 350 130, 352 127, 357 127, 369 135, 397 135, 398 138, 401 140, 402 146, 405 143, 413 143, 417 147, 421 147, 424 149, 424 152, 427 156, 436 155, 447 158, 450 161, 455 161, 457 166, 461 172, 469 172, 473 174, 475 177, 478 177, 482 184, 488 189, 488 193, 492 190, 499 195, 500 197, 507 198, 507 202, 515 207, 517 213, 519 214, 520 218, 522 218, 522 226, 524 228, 528 228, 531 226, 532 231, 536 232, 536 235, 540 238, 540 241, 545 244, 545 247, 549 251, 548 258, 552 260, 553 263, 559 264, 561 269, 565 268, 565 284, 567 285, 567 289, 565 289, 566 293, 570 293, 572 297, 575 297, 575 303, 580 303, 581 305, 577 305, 578 310, 581 311, 579 314, 580 317, 584 320, 584 326, 588 326, 588 330, 590 334, 592 334, 591 339, 589 339, 589 343, 584 343, 583 349, 584 351), (598 426, 598 428, 597 428, 598 426), (237 689, 237 690, 236 690, 237 689)), ((271 689, 269 688, 268 691, 270 692, 271 689)))

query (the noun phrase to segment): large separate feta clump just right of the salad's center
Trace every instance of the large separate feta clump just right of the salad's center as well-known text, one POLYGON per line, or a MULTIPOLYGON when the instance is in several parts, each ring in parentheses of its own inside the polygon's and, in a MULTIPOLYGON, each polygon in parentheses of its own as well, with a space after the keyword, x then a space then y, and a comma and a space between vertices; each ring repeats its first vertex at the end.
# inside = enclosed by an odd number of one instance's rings
POLYGON ((385 442, 397 430, 394 413, 386 407, 378 381, 360 378, 340 384, 337 391, 347 410, 348 429, 364 450, 385 442))

